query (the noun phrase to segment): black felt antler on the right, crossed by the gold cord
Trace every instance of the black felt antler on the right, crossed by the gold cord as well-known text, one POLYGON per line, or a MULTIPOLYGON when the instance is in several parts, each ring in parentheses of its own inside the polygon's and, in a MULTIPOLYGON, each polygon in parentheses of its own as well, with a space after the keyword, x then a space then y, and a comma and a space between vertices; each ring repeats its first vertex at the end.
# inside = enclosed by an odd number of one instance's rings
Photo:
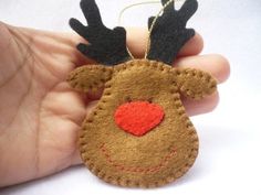
MULTIPOLYGON (((163 6, 169 0, 161 0, 163 6)), ((179 50, 195 35, 192 29, 186 29, 187 21, 198 9, 197 0, 186 0, 180 10, 175 10, 174 1, 164 9, 150 34, 150 50, 147 58, 171 65, 179 50)), ((149 18, 150 29, 155 17, 149 18)))

